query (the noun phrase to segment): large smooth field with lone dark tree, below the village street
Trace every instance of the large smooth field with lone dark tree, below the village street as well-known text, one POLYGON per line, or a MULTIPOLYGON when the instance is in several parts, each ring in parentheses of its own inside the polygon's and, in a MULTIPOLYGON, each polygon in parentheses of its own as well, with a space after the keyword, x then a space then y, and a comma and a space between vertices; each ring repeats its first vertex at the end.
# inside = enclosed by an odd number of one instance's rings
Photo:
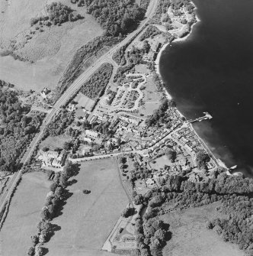
POLYGON ((69 186, 73 194, 53 220, 61 229, 45 244, 48 255, 111 255, 100 250, 128 203, 114 159, 82 163, 74 178, 77 183, 69 186))

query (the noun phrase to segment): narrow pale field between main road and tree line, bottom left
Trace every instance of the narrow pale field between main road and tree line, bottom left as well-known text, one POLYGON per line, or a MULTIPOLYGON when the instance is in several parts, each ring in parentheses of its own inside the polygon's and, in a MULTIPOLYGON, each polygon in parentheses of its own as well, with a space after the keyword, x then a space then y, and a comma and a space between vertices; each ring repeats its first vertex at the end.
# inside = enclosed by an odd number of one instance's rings
POLYGON ((1 256, 26 254, 31 245, 30 236, 37 232, 49 186, 45 173, 24 174, 0 232, 1 256))

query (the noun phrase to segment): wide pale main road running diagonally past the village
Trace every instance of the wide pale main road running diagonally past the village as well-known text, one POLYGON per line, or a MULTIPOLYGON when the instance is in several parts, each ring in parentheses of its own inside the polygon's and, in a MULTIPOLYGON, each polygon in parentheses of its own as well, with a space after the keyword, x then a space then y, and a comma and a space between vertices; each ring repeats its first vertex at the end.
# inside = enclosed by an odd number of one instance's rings
MULTIPOLYGON (((107 53, 105 53, 103 56, 101 56, 98 60, 96 60, 92 66, 90 66, 87 70, 85 70, 82 75, 78 76, 77 79, 72 83, 71 86, 69 86, 68 89, 62 94, 62 96, 57 100, 57 102, 53 105, 52 111, 46 115, 46 118, 44 118, 43 125, 40 127, 40 132, 35 135, 33 141, 30 143, 30 147, 27 149, 26 153, 24 154, 24 157, 21 159, 21 163, 26 164, 27 161, 30 159, 31 155, 33 154, 35 147, 40 142, 41 138, 43 138, 43 130, 46 128, 46 125, 48 125, 53 117, 59 112, 59 108, 64 105, 69 98, 71 98, 75 92, 78 92, 78 89, 81 88, 81 86, 85 83, 85 81, 96 71, 98 70, 99 66, 101 66, 102 63, 108 62, 108 63, 114 63, 112 60, 113 54, 124 44, 127 44, 129 41, 131 41, 134 37, 136 37, 137 34, 139 34, 141 31, 143 31, 143 28, 145 28, 146 24, 149 23, 149 19, 152 18, 152 15, 155 13, 155 8, 157 7, 159 1, 158 0, 150 0, 149 7, 146 11, 146 18, 143 20, 139 27, 136 29, 136 31, 133 31, 132 33, 128 34, 123 41, 121 41, 116 46, 112 47, 107 53)), ((8 187, 6 188, 5 192, 2 194, 0 198, 0 210, 5 205, 5 202, 8 200, 8 198, 11 196, 12 190, 18 183, 18 180, 20 179, 22 174, 22 168, 17 173, 14 173, 14 175, 11 177, 11 180, 8 183, 8 187)))

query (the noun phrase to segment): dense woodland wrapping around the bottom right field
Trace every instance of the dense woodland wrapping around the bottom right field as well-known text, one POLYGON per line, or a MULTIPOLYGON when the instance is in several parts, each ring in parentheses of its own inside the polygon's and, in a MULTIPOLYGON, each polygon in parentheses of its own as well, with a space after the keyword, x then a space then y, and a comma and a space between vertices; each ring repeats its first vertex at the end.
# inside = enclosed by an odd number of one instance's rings
MULTIPOLYGON (((203 206, 216 201, 222 203, 219 212, 229 218, 213 219, 207 223, 207 228, 213 228, 224 241, 238 244, 248 255, 252 255, 253 229, 253 180, 242 176, 228 176, 222 168, 209 173, 202 181, 193 183, 187 176, 168 175, 163 180, 163 186, 154 188, 144 196, 133 193, 136 204, 147 206, 143 219, 136 225, 136 240, 138 249, 133 255, 160 255, 168 238, 168 227, 162 238, 155 242, 150 233, 155 234, 150 222, 157 222, 159 215, 175 209, 203 206), (150 229, 150 230, 149 230, 150 229), (167 235, 166 235, 167 234, 167 235)), ((164 224, 160 223, 162 228, 164 224)), ((173 234, 172 234, 173 235, 173 234)))

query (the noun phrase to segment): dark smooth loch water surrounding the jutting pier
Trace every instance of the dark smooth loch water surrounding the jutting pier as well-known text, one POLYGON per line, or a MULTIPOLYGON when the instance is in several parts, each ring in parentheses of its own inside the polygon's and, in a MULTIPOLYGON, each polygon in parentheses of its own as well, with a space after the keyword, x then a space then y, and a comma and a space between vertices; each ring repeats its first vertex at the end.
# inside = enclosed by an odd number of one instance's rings
POLYGON ((227 167, 253 177, 253 0, 194 0, 200 21, 160 59, 166 89, 227 167))

